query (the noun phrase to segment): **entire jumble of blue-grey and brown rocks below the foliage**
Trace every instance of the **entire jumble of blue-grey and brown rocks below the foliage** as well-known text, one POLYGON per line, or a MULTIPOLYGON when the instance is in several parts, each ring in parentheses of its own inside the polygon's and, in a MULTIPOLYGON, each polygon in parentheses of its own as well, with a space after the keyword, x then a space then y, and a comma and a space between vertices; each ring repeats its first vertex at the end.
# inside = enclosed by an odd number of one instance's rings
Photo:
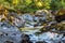
POLYGON ((64 16, 61 16, 61 20, 60 16, 55 16, 47 10, 37 11, 34 15, 29 13, 18 15, 15 12, 8 13, 6 10, 2 10, 0 13, 0 43, 64 43, 64 16), (36 27, 41 27, 38 30, 40 32, 34 30, 38 35, 23 34, 20 30, 20 28, 36 29, 36 27))

